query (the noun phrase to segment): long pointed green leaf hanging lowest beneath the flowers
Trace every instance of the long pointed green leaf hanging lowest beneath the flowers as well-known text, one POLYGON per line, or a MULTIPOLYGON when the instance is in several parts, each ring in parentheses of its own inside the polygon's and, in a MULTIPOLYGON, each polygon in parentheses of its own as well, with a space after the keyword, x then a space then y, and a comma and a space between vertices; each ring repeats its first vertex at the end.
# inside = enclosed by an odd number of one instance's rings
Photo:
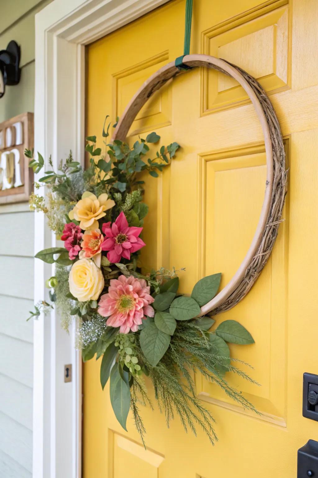
POLYGON ((110 397, 114 414, 123 429, 127 431, 126 421, 130 408, 130 390, 122 379, 115 363, 111 371, 110 397))

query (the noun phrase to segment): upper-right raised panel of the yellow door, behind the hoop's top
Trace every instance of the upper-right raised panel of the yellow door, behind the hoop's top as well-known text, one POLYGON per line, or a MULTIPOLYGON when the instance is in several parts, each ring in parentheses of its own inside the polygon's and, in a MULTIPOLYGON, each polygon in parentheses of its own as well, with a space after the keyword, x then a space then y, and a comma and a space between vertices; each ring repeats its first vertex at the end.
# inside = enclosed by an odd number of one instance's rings
MULTIPOLYGON (((239 65, 272 94, 290 87, 291 36, 288 0, 246 11, 202 32, 203 53, 239 65)), ((250 102, 236 80, 202 71, 202 114, 250 102)))

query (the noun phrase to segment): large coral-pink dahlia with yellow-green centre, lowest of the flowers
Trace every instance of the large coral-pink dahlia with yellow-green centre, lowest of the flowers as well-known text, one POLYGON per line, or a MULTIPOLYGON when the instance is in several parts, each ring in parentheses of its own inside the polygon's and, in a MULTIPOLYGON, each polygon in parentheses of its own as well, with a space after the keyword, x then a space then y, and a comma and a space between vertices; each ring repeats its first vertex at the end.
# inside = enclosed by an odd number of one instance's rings
POLYGON ((138 330, 145 315, 154 316, 154 309, 149 305, 153 302, 154 297, 144 279, 120 275, 111 280, 108 293, 101 296, 98 313, 108 317, 108 326, 120 327, 122 334, 128 334, 130 330, 138 330))

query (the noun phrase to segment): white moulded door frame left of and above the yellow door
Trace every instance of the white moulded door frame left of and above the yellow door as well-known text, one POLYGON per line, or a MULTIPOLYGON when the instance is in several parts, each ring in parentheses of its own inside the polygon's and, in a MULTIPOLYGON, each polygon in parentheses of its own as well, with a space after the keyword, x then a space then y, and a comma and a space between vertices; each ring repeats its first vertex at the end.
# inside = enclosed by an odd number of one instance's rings
MULTIPOLYGON (((84 46, 167 0, 54 0, 35 17, 35 151, 53 163, 70 149, 84 161, 84 46)), ((56 238, 35 215, 35 252, 56 238)), ((35 260, 34 300, 52 267, 35 260)), ((34 322, 33 478, 81 477, 82 360, 55 312, 34 322), (64 365, 72 382, 64 383, 64 365)))

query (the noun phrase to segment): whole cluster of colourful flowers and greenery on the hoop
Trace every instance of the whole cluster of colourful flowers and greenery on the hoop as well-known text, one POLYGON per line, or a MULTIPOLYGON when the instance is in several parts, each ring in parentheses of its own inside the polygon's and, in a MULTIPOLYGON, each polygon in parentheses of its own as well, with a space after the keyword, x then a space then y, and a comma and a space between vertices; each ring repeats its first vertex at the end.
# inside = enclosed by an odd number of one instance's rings
MULTIPOLYGON (((104 124, 104 138, 109 127, 105 130, 104 124)), ((148 213, 143 202, 144 174, 158 177, 180 146, 162 145, 154 159, 144 161, 149 145, 160 141, 155 132, 132 148, 120 140, 106 144, 104 155, 95 136, 86 141, 90 166, 83 170, 70 152, 55 172, 50 157, 51 170, 35 183, 37 189, 47 186, 46 195, 30 198, 31 208, 44 212, 51 230, 64 241, 64 247, 35 256, 55 264, 55 275, 46 284, 51 303, 56 304, 65 329, 73 318, 78 320, 76 347, 82 350, 83 360, 102 357, 101 385, 104 388, 110 380, 113 411, 124 430, 131 409, 144 443, 140 405, 152 407, 146 389, 152 383, 167 425, 176 414, 185 431, 196 433, 199 426, 214 443, 215 420, 196 396, 193 373, 201 372, 235 402, 258 413, 225 379, 226 372, 232 371, 256 383, 233 365, 227 345, 254 340, 234 320, 211 330, 215 320, 200 316, 200 307, 218 291, 221 273, 204 277, 191 295, 185 295, 178 293, 184 270, 144 273, 139 260, 146 246, 141 236, 148 213)), ((25 154, 39 173, 44 167, 41 154, 37 160, 33 151, 25 154)), ((52 304, 36 304, 31 317, 47 313, 52 304)))

